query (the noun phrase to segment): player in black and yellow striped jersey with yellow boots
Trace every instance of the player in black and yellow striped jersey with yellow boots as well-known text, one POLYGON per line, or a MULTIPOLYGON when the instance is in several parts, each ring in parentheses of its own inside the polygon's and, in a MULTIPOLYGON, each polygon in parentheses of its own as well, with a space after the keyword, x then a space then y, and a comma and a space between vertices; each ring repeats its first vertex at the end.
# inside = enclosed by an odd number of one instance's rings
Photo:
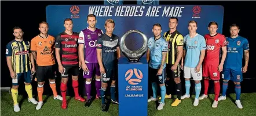
MULTIPOLYGON (((181 79, 180 79, 180 61, 183 55, 183 36, 177 30, 178 18, 170 17, 169 28, 170 30, 164 33, 164 39, 168 42, 168 52, 166 57, 166 95, 165 98, 171 98, 170 93, 170 78, 174 79, 177 88, 177 99, 171 106, 178 106, 181 103, 181 79)), ((183 64, 183 60, 181 61, 183 64)), ((159 98, 161 99, 161 98, 159 98)))

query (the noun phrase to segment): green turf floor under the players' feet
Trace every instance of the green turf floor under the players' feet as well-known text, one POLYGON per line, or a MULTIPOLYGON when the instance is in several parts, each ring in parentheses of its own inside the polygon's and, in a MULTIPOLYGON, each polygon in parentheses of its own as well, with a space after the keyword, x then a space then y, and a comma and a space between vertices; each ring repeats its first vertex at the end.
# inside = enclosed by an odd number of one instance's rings
MULTIPOLYGON (((214 95, 199 101, 199 106, 193 106, 194 95, 191 98, 182 100, 181 104, 177 107, 170 106, 173 99, 166 99, 163 110, 156 110, 155 102, 148 103, 148 115, 256 115, 256 93, 242 94, 241 101, 243 109, 238 109, 235 105, 235 94, 231 94, 231 98, 227 97, 226 100, 220 101, 217 108, 212 108, 214 95)), ((43 96, 46 99, 47 96, 43 96)), ((19 95, 18 102, 22 99, 19 95)), ((70 99, 68 97, 67 99, 70 99)), ((41 110, 35 110, 36 105, 29 103, 27 98, 20 102, 21 110, 19 113, 13 111, 13 101, 9 92, 1 91, 1 115, 118 115, 118 106, 111 105, 108 112, 101 111, 101 100, 94 100, 91 107, 86 108, 84 103, 70 99, 68 109, 61 109, 61 101, 54 100, 53 96, 49 96, 41 110)), ((134 103, 136 105, 136 103, 134 103)), ((129 113, 129 108, 127 109, 129 113)))

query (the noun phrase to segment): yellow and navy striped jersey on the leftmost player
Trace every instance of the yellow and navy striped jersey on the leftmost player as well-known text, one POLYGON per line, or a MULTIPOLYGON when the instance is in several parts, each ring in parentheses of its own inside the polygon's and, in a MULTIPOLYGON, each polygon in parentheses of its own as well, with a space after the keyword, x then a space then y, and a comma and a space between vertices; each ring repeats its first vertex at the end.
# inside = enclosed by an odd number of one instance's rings
POLYGON ((6 56, 12 56, 12 67, 16 74, 31 71, 30 42, 10 41, 6 45, 6 56))

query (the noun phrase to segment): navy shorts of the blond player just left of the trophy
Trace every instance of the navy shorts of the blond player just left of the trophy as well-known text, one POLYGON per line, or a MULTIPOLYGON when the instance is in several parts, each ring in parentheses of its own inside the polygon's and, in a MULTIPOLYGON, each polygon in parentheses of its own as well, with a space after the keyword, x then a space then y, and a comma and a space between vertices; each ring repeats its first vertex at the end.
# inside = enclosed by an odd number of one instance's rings
POLYGON ((109 80, 116 80, 117 65, 104 65, 105 74, 101 74, 101 82, 108 83, 109 80))

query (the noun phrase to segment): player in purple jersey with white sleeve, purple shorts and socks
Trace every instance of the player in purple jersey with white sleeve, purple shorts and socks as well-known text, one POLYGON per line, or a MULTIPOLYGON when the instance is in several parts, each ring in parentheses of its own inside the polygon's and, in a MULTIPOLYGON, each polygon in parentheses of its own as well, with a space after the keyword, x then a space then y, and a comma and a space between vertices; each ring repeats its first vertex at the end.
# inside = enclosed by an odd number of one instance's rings
POLYGON ((95 75, 96 81, 96 98, 100 97, 100 66, 98 65, 97 60, 97 51, 96 51, 96 42, 98 36, 103 34, 101 29, 95 27, 96 25, 96 16, 94 14, 89 14, 87 16, 87 24, 89 25, 86 29, 83 29, 79 33, 78 43, 79 43, 79 57, 82 63, 83 69, 83 78, 85 78, 85 88, 87 94, 87 101, 85 103, 86 107, 89 107, 91 100, 91 83, 92 78, 95 75))

